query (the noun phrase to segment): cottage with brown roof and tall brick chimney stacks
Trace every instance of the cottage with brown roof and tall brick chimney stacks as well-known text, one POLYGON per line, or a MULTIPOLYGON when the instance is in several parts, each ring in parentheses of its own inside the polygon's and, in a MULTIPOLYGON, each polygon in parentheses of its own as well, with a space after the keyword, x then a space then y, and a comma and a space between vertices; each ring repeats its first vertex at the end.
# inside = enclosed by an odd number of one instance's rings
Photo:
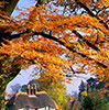
POLYGON ((18 92, 7 103, 8 110, 55 110, 56 102, 45 91, 29 85, 26 92, 18 92))

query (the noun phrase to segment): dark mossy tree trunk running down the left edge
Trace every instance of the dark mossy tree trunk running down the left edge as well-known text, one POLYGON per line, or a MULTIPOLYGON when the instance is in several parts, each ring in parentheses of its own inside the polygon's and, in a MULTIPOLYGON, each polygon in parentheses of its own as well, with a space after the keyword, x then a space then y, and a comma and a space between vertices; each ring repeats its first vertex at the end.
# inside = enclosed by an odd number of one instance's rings
MULTIPOLYGON (((11 15, 11 13, 13 12, 17 3, 19 0, 0 0, 3 2, 8 2, 4 3, 3 6, 3 11, 8 12, 9 15, 11 15)), ((3 33, 2 30, 0 31, 0 33, 3 33)), ((0 34, 2 36, 6 35, 6 33, 0 34)), ((0 43, 2 42, 2 38, 0 37, 0 43)), ((12 80, 14 78, 14 76, 17 76, 18 73, 15 73, 14 75, 10 75, 9 73, 6 73, 2 70, 2 61, 0 61, 0 110, 4 110, 4 91, 6 91, 6 87, 9 84, 10 80, 12 80)))

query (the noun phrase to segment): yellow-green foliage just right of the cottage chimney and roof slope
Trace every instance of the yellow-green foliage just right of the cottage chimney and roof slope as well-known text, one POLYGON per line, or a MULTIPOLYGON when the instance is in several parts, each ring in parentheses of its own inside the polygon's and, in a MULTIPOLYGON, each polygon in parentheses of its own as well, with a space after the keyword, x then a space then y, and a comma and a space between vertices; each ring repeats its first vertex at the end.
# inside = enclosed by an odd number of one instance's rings
POLYGON ((66 97, 66 87, 61 81, 57 82, 51 82, 47 85, 47 82, 41 82, 41 90, 45 90, 52 99, 54 99, 58 107, 62 108, 62 110, 68 110, 69 103, 68 98, 66 97), (45 84, 45 85, 44 85, 45 84))

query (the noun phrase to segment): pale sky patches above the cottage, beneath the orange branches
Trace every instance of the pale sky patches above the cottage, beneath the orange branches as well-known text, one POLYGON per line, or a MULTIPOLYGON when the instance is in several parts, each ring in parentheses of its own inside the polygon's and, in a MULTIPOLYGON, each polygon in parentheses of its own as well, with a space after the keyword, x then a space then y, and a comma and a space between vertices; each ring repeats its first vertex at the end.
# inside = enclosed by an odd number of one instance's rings
MULTIPOLYGON (((11 87, 15 86, 17 84, 23 86, 26 85, 30 80, 39 78, 39 75, 34 77, 32 76, 34 75, 34 73, 35 73, 35 65, 31 65, 25 70, 24 69, 20 70, 17 77, 8 84, 6 91, 10 95, 15 94, 15 91, 13 91, 11 87)), ((67 95, 72 95, 72 91, 78 92, 78 86, 80 85, 81 80, 86 82, 86 79, 90 77, 90 75, 83 75, 83 74, 79 74, 78 76, 84 78, 73 77, 72 84, 66 84, 67 95)))

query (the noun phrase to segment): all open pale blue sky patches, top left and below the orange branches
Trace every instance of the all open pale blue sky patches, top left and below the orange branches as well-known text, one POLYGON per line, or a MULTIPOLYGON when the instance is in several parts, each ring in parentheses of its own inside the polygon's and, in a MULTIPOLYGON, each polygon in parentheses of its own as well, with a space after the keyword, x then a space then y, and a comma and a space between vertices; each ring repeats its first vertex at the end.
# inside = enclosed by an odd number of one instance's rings
MULTIPOLYGON (((21 8, 21 9, 22 8, 29 8, 29 7, 34 6, 34 4, 35 4, 35 0, 19 0, 19 2, 18 2, 18 7, 21 8)), ((19 14, 19 11, 14 10, 13 13, 12 13, 12 16, 15 18, 18 14, 19 14)), ((26 69, 26 70, 22 69, 19 73, 19 75, 8 84, 6 91, 8 94, 14 94, 11 86, 14 86, 15 84, 20 84, 21 86, 26 85, 33 78, 33 77, 31 77, 31 74, 33 74, 33 73, 34 73, 34 66, 30 66, 29 69, 26 69)), ((87 79, 90 77, 90 75, 79 75, 79 76, 83 76, 87 79)), ((86 79, 73 77, 72 82, 74 85, 66 84, 67 94, 69 95, 69 94, 72 94, 72 91, 78 92, 78 86, 80 85, 81 80, 85 81, 86 79)))

